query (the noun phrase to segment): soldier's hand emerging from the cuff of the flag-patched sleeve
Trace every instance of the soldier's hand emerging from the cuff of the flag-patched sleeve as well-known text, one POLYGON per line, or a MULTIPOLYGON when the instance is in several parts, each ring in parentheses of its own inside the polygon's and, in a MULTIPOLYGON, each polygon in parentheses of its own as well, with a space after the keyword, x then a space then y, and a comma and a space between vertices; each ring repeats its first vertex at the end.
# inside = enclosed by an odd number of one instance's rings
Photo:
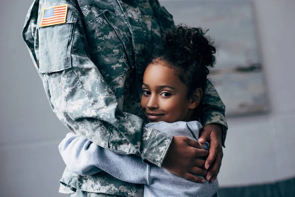
POLYGON ((196 159, 197 157, 207 157, 209 152, 201 149, 203 145, 198 141, 186 136, 174 136, 168 150, 163 167, 177 176, 187 180, 205 183, 204 178, 207 170, 204 168, 205 161, 196 159))

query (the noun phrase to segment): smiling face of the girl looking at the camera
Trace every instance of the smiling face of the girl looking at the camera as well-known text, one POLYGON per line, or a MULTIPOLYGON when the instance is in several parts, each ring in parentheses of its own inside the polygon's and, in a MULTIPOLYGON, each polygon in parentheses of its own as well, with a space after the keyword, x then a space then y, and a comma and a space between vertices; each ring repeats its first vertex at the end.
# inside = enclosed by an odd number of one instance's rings
POLYGON ((186 85, 162 61, 145 71, 141 106, 149 122, 188 121, 191 113, 186 85))

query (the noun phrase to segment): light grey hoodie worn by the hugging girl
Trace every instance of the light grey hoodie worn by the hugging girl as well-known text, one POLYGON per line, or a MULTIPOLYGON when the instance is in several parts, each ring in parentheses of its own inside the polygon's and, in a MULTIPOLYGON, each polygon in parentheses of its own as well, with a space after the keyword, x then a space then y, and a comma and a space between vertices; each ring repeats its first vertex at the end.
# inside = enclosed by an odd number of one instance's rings
MULTIPOLYGON (((192 139, 198 139, 202 129, 198 121, 148 123, 146 127, 192 139)), ((207 142, 204 149, 208 150, 207 142)), ((87 176, 105 171, 122 181, 145 184, 145 197, 218 197, 217 180, 213 183, 194 183, 163 167, 145 164, 135 155, 117 155, 72 132, 59 144, 59 152, 69 169, 79 175, 87 176)))

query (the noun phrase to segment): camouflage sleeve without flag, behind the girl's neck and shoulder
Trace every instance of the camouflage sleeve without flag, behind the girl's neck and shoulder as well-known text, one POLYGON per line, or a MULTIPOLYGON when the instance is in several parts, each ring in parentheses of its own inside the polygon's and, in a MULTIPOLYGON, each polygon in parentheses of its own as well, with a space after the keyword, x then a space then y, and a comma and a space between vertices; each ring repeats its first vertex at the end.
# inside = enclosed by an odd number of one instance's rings
POLYGON ((222 126, 222 146, 225 147, 224 142, 228 130, 225 118, 225 105, 209 80, 207 80, 207 89, 204 93, 200 108, 200 118, 203 126, 211 123, 217 123, 222 126))

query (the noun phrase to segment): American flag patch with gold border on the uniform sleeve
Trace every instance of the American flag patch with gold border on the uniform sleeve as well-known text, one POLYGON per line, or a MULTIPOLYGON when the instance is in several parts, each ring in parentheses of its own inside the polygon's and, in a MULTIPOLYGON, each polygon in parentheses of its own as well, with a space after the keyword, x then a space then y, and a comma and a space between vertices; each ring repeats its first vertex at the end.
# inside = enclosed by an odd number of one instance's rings
POLYGON ((68 4, 44 8, 40 27, 65 23, 67 5, 68 4))

